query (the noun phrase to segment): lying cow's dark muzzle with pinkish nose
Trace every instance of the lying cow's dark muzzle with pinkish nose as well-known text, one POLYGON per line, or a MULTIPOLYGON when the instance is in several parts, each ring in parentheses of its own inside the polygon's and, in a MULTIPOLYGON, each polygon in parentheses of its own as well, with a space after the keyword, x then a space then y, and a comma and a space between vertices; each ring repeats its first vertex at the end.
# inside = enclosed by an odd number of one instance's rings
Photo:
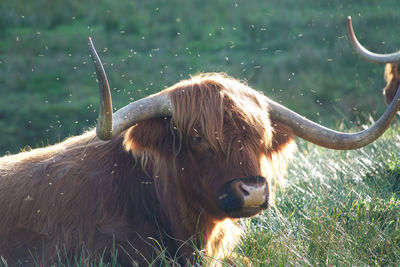
POLYGON ((251 217, 267 209, 268 200, 267 180, 250 176, 225 183, 218 194, 218 207, 229 217, 251 217))

